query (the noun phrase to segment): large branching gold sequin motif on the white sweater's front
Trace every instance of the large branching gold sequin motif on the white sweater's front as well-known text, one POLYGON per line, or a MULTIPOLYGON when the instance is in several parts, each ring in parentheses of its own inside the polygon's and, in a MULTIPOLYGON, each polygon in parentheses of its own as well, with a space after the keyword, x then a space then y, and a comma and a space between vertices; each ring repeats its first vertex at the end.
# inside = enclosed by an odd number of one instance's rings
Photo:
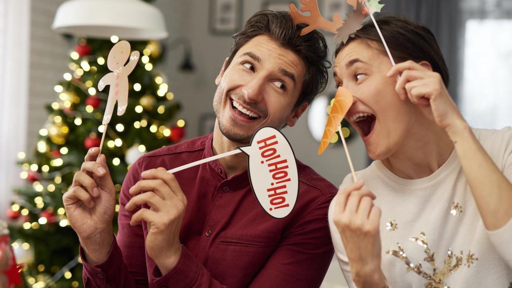
MULTIPOLYGON (((446 283, 444 283, 444 280, 446 277, 450 276, 452 273, 455 273, 462 265, 462 259, 463 259, 463 252, 460 251, 459 255, 454 255, 452 252, 452 249, 448 249, 448 256, 446 259, 444 259, 444 266, 442 270, 439 270, 436 265, 436 259, 435 259, 435 252, 431 252, 429 248, 429 243, 426 241, 426 236, 424 232, 420 233, 420 237, 412 237, 410 238, 411 241, 415 241, 423 247, 423 251, 426 254, 426 257, 423 259, 423 261, 429 263, 432 267, 433 273, 429 274, 426 273, 423 270, 423 267, 421 265, 421 262, 418 264, 413 264, 411 260, 406 255, 406 252, 403 251, 402 246, 400 243, 396 243, 398 245, 398 250, 388 250, 386 251, 387 254, 393 255, 397 257, 398 259, 402 260, 407 265, 407 272, 414 271, 414 273, 418 274, 419 276, 423 277, 426 280, 429 280, 429 282, 425 283, 425 288, 450 288, 446 283), (455 258, 455 263, 454 263, 455 258)), ((471 264, 474 264, 474 261, 478 260, 478 258, 474 257, 475 254, 468 253, 468 258, 466 258, 466 263, 470 262, 471 264)), ((470 265, 468 265, 470 267, 470 265)))

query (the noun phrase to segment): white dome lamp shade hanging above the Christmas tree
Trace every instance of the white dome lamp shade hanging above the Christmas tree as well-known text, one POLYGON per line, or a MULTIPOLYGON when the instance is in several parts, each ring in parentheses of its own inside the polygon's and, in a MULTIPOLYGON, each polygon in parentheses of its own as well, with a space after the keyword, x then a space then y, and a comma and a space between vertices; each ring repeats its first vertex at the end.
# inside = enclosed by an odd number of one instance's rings
POLYGON ((141 0, 69 0, 57 9, 52 29, 79 37, 126 40, 168 36, 163 14, 141 0))

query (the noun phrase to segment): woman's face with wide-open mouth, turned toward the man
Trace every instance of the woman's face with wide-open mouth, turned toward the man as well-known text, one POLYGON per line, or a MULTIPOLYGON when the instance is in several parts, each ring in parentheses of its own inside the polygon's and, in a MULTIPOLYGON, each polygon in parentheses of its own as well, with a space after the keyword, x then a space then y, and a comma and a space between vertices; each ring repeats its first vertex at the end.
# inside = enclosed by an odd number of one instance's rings
POLYGON ((391 61, 374 43, 355 40, 334 61, 336 85, 354 95, 346 119, 359 132, 373 160, 391 156, 408 137, 416 120, 416 107, 402 101, 396 79, 386 76, 391 61))

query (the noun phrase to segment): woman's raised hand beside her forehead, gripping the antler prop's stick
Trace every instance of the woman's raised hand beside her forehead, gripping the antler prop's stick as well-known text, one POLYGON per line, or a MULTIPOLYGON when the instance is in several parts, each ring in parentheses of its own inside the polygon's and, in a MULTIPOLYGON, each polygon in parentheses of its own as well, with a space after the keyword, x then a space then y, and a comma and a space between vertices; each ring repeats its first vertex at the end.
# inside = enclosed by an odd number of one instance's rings
POLYGON ((400 75, 395 86, 400 99, 409 98, 426 117, 450 135, 452 130, 467 124, 446 90, 441 75, 426 67, 430 68, 428 62, 416 63, 409 60, 396 64, 387 76, 400 75))

